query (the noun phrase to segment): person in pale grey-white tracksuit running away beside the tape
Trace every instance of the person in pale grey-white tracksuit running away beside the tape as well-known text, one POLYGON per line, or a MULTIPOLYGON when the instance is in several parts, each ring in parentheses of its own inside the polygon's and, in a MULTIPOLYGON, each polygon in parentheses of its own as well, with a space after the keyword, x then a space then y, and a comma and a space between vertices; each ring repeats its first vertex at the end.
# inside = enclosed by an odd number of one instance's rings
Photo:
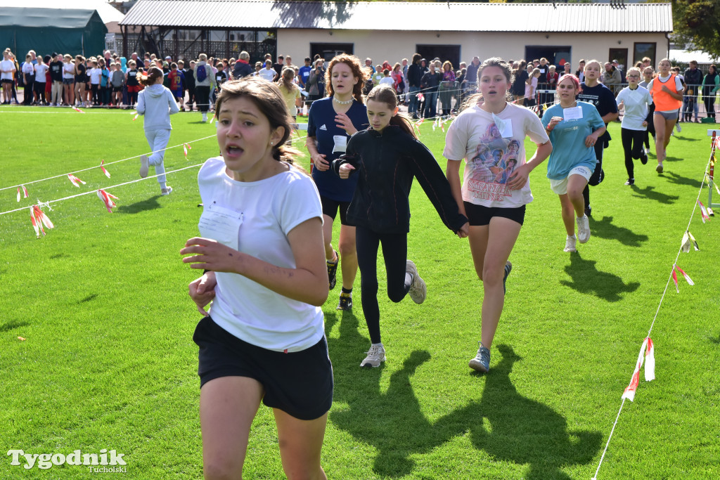
POLYGON ((140 155, 140 177, 148 176, 150 165, 155 167, 158 176, 161 194, 167 195, 173 191, 165 181, 165 148, 170 140, 170 115, 180 111, 172 92, 163 86, 163 71, 152 67, 148 76, 141 76, 140 83, 145 89, 138 94, 138 113, 145 118, 145 138, 152 152, 150 156, 140 155))

